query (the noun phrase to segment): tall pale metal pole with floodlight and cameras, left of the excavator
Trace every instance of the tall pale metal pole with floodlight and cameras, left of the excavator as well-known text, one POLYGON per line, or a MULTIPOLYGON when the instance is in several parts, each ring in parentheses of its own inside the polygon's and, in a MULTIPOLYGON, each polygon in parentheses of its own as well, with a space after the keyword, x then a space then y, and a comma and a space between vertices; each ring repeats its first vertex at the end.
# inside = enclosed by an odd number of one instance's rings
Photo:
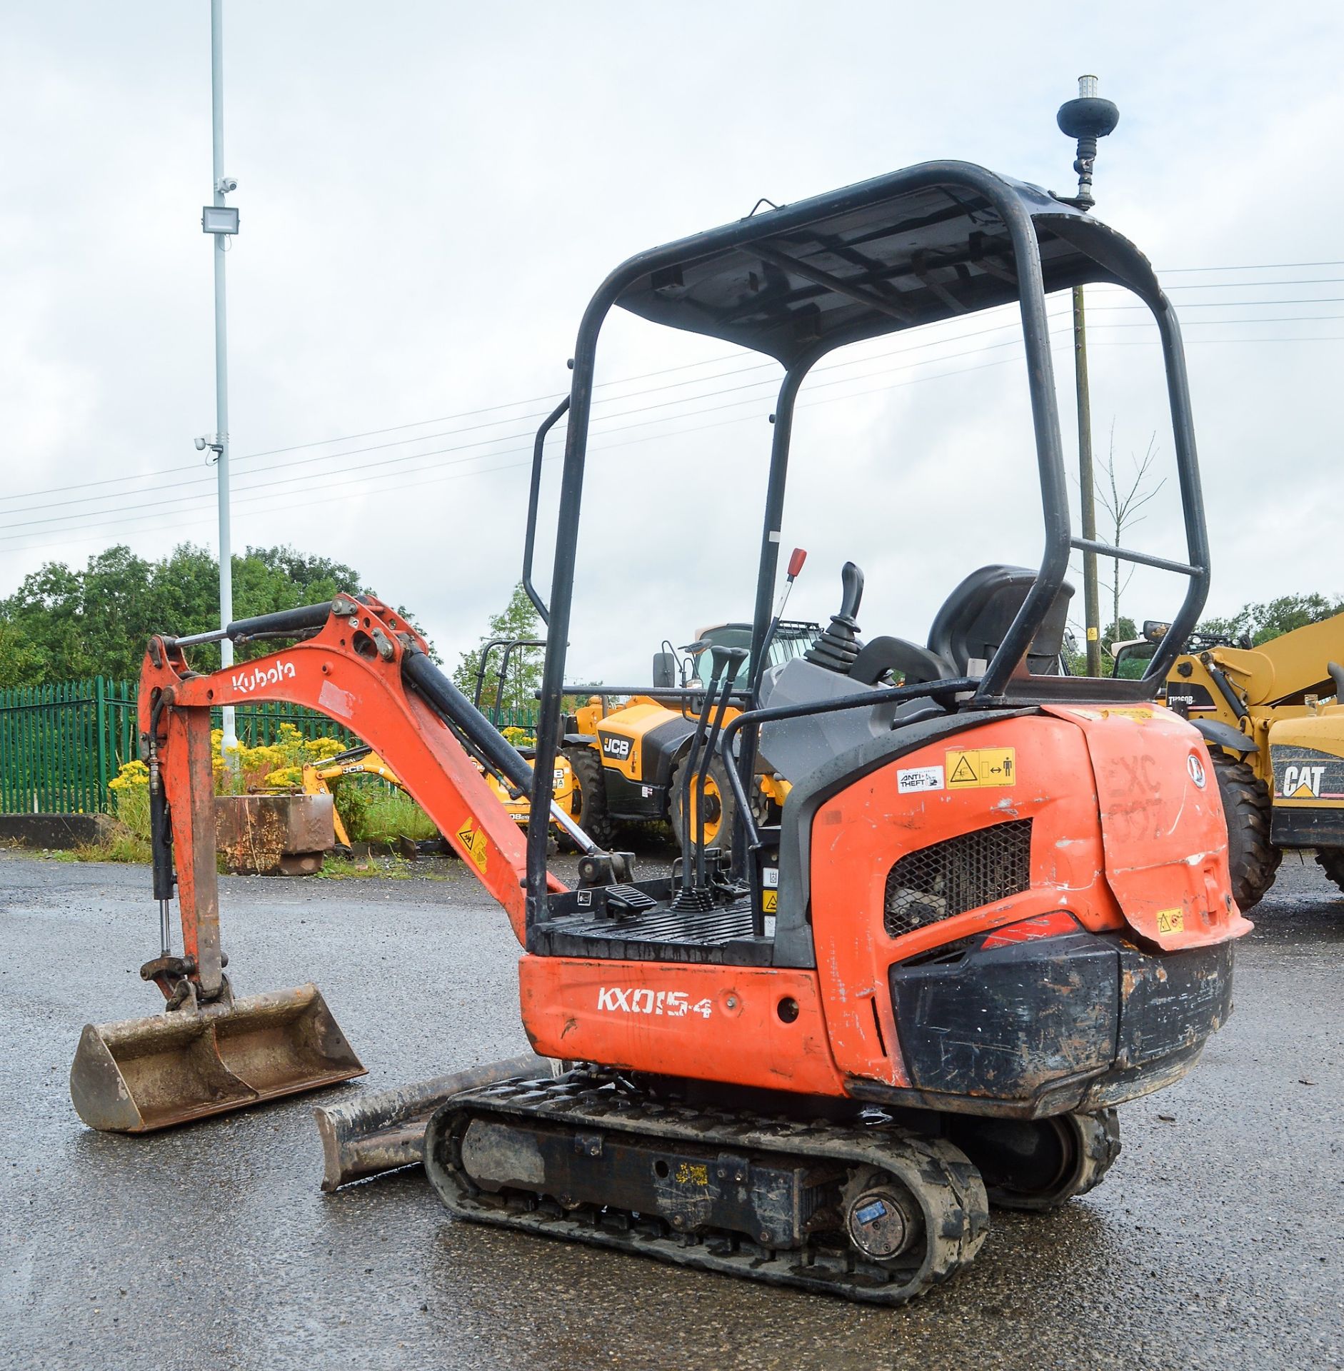
MULTIPOLYGON (((224 254, 228 240, 239 230, 239 211, 225 203, 237 189, 237 181, 224 174, 224 0, 210 0, 210 129, 214 143, 214 202, 200 211, 203 233, 214 237, 215 259, 215 432, 208 441, 196 440, 197 448, 215 454, 219 505, 219 627, 233 620, 233 547, 229 532, 229 354, 225 326, 224 254)), ((233 665, 233 643, 219 642, 219 665, 233 665)), ((224 707, 222 751, 230 766, 237 765, 237 729, 233 706, 224 707), (232 753, 232 757, 230 757, 232 753)))

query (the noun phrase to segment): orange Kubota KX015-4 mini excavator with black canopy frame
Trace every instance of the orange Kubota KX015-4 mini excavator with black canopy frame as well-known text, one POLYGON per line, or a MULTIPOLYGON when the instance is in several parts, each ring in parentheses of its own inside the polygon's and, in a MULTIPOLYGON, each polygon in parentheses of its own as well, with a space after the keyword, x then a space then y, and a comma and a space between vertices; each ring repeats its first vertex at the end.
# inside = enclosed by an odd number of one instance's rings
POLYGON ((1218 788, 1200 735, 1152 702, 1208 584, 1175 315, 1147 259, 1072 203, 933 162, 624 262, 583 317, 571 396, 538 458, 566 407, 550 602, 536 595, 549 632, 535 771, 381 600, 230 624, 207 636, 298 642, 213 675, 189 669, 193 640, 151 642, 140 729, 155 890, 166 930, 176 866, 182 949, 165 934, 144 968, 166 1013, 85 1030, 75 1102, 95 1127, 134 1131, 362 1071, 313 987, 235 1001, 224 973, 210 710, 289 701, 377 749, 505 908, 528 1038, 565 1064, 479 1080, 433 1113, 425 1168, 453 1213, 898 1304, 975 1254, 990 1205, 1046 1209, 1094 1186, 1119 1148, 1115 1106, 1181 1079, 1230 1009, 1249 924, 1229 893, 1218 788), (1085 282, 1129 288, 1156 322, 1185 559, 1071 536, 1046 295, 1085 282), (863 581, 846 566, 841 610, 808 653, 763 666, 809 369, 1009 303, 1040 566, 974 570, 923 643, 863 642, 863 581), (684 784, 723 761, 736 840, 690 834, 671 876, 642 880, 628 854, 579 834, 568 888, 547 871, 550 787, 613 306, 754 348, 783 381, 750 650, 717 648, 691 687, 684 784), (1185 577, 1142 680, 1061 670, 1071 548, 1185 577), (525 840, 477 761, 531 792, 525 840), (772 827, 747 802, 761 773, 789 783, 772 827))

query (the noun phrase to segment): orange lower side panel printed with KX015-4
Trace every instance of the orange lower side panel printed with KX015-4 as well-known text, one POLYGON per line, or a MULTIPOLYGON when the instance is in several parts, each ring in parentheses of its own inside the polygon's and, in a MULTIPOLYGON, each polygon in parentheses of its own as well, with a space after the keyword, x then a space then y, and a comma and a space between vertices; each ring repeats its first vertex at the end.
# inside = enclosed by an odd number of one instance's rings
POLYGON ((843 1095, 811 971, 524 957, 523 1026, 543 1057, 843 1095), (780 1015, 797 1017, 786 1021, 780 1015))

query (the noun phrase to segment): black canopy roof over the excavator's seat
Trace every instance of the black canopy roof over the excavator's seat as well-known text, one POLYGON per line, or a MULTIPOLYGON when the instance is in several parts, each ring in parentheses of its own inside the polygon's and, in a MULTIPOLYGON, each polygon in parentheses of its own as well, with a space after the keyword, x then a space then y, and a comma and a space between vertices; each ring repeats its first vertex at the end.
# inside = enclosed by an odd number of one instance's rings
POLYGON ((616 303, 791 366, 1015 302, 1005 217, 1019 211, 1035 232, 1046 293, 1109 281, 1164 307, 1127 239, 1040 186, 964 162, 924 163, 642 254, 620 269, 627 284, 616 303))

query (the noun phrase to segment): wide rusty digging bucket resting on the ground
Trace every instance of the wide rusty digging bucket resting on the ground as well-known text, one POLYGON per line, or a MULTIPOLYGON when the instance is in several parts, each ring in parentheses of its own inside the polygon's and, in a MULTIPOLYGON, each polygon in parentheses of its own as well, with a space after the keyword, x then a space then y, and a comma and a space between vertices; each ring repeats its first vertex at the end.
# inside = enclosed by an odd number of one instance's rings
POLYGON ((103 1132, 154 1132, 365 1075, 317 986, 85 1024, 75 1112, 103 1132))

